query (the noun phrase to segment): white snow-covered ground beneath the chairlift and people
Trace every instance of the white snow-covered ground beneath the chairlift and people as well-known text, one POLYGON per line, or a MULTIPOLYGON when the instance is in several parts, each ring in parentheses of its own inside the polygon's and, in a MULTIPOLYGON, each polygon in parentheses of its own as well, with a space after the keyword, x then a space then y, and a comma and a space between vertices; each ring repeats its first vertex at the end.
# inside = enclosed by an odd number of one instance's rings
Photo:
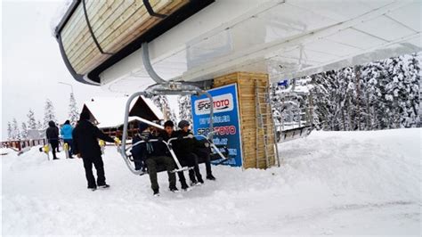
POLYGON ((158 198, 113 147, 104 157, 111 188, 96 192, 81 159, 11 151, 3 234, 420 235, 421 131, 313 132, 280 145, 281 168, 214 167, 217 181, 180 193, 166 191, 160 173, 158 198))

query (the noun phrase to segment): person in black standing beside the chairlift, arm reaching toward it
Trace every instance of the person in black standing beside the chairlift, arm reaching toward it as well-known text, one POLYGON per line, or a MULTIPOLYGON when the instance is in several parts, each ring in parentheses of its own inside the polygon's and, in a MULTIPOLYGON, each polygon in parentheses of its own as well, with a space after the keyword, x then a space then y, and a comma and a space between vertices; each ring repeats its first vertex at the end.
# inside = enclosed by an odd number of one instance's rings
POLYGON ((88 112, 82 112, 80 119, 77 122, 77 127, 73 129, 73 153, 78 158, 84 160, 85 176, 88 183, 88 189, 95 190, 97 185, 102 188, 110 187, 106 184, 104 176, 104 163, 101 158, 101 148, 98 144, 98 139, 109 143, 115 141, 108 135, 103 134, 98 127, 93 126, 89 121, 90 115, 88 112), (97 182, 93 176, 93 166, 97 170, 97 182))

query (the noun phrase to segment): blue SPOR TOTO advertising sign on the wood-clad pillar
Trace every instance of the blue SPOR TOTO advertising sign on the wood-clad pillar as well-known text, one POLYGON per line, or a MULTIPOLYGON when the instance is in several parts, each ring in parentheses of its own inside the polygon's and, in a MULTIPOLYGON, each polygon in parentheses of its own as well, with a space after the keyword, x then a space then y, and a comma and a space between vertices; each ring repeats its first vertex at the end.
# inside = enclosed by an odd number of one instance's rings
MULTIPOLYGON (((214 100, 215 145, 225 145, 231 159, 223 162, 232 167, 242 166, 242 147, 240 140, 238 88, 236 84, 208 90, 214 100)), ((207 135, 209 132, 210 102, 206 95, 191 96, 192 130, 195 135, 207 135)), ((218 162, 218 160, 215 160, 218 162)))

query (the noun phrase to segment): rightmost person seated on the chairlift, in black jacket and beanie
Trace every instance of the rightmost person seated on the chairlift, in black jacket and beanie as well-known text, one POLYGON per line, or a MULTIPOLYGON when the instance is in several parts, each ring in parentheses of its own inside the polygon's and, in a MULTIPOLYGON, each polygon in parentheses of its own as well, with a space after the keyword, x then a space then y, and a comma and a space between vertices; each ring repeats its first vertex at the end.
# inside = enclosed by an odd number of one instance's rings
POLYGON ((174 141, 174 151, 183 164, 193 167, 189 170, 191 185, 204 184, 204 180, 199 172, 198 156, 194 153, 195 148, 199 146, 198 140, 193 136, 189 129, 189 122, 182 120, 178 127, 181 129, 176 132, 177 140, 174 141), (183 138, 188 136, 189 138, 183 138), (197 180, 198 179, 198 180, 197 180))

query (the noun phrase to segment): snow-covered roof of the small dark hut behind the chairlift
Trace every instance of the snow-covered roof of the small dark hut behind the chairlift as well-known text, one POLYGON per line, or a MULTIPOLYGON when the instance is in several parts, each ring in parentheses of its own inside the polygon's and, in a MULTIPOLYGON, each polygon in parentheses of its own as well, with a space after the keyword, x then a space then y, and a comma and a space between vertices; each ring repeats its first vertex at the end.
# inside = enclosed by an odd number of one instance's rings
MULTIPOLYGON (((123 125, 125 119, 127 99, 127 97, 95 97, 85 102, 85 106, 93 114, 93 117, 98 123, 98 127, 120 127, 123 125)), ((140 99, 141 98, 138 98, 138 100, 140 99)), ((132 101, 130 110, 134 108, 134 104, 138 100, 132 101)), ((163 113, 152 101, 150 101, 150 99, 142 97, 142 100, 148 105, 155 117, 158 119, 164 118, 163 113)), ((142 119, 138 116, 130 116, 129 121, 133 120, 149 122, 147 119, 142 119)))

